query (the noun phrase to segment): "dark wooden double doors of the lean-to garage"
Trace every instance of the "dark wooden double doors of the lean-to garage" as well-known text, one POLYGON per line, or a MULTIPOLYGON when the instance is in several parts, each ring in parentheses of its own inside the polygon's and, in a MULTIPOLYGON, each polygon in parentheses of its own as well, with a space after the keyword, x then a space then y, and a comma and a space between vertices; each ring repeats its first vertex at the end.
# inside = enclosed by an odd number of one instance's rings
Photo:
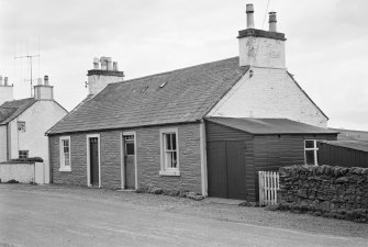
POLYGON ((209 195, 246 199, 245 144, 236 141, 208 144, 209 195))

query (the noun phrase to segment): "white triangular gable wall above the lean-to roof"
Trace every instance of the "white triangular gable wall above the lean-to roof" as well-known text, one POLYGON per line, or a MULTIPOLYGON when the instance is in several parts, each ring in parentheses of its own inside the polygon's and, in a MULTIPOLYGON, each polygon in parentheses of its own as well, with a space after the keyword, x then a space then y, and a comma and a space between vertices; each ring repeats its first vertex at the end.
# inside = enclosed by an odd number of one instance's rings
POLYGON ((209 116, 289 119, 326 127, 327 119, 286 69, 250 67, 209 116))

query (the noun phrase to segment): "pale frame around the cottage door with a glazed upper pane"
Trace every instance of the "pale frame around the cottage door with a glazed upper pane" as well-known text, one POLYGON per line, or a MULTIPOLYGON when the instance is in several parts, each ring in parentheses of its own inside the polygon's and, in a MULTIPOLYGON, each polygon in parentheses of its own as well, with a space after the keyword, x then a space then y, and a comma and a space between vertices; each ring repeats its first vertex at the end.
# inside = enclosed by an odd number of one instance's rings
POLYGON ((125 190, 125 143, 124 143, 124 136, 126 135, 133 135, 134 136, 134 189, 138 189, 138 171, 137 171, 137 149, 136 149, 136 132, 121 132, 120 138, 120 146, 121 146, 121 189, 125 190))

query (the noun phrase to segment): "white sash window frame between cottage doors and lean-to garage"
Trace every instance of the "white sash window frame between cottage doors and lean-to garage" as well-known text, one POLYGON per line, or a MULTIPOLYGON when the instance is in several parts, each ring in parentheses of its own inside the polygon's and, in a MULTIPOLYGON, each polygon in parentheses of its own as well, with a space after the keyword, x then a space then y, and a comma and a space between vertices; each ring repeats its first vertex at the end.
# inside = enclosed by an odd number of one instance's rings
POLYGON ((168 128, 160 128, 159 130, 159 143, 160 143, 160 171, 159 176, 180 176, 180 161, 179 161, 179 135, 178 135, 178 127, 168 127, 168 128), (176 149, 175 150, 167 150, 166 149, 166 136, 169 134, 176 135, 176 149), (167 151, 176 151, 176 167, 168 167, 168 164, 165 159, 165 154, 167 151))

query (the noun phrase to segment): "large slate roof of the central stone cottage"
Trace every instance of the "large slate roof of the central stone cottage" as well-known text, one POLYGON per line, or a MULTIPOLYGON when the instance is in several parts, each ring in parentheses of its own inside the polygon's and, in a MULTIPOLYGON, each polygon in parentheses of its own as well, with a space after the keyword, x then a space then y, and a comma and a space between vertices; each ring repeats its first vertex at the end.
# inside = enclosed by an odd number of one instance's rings
POLYGON ((238 57, 110 83, 48 134, 194 122, 242 78, 238 57))

